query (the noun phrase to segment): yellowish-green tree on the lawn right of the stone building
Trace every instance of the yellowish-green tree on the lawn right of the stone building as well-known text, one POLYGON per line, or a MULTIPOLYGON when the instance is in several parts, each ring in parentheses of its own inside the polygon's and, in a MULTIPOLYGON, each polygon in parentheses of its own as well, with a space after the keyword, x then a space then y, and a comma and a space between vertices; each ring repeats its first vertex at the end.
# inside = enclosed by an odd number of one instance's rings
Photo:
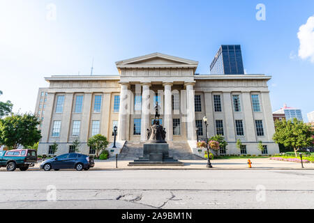
POLYGON ((303 121, 293 118, 293 120, 275 122, 274 141, 277 144, 283 144, 286 147, 292 147, 297 157, 299 148, 313 145, 313 130, 311 126, 306 125, 303 121))

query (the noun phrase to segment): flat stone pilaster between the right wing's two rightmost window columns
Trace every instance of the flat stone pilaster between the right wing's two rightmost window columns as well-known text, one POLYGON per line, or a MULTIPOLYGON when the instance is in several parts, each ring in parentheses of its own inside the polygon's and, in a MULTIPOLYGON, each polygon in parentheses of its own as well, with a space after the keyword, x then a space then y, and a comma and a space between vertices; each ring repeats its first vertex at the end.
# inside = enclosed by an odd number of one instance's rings
POLYGON ((251 95, 249 91, 242 92, 242 103, 245 118, 244 125, 246 126, 244 135, 246 136, 247 141, 256 141, 255 123, 251 104, 251 95))

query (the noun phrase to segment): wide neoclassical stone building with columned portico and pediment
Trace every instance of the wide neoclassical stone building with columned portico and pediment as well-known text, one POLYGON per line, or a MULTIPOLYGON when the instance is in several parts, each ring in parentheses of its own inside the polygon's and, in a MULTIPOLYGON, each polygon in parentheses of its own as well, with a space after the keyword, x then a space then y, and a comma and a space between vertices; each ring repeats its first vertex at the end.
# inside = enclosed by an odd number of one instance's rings
MULTIPOLYGON (((160 122, 166 140, 186 142, 191 149, 205 138, 204 116, 209 137, 221 134, 228 141, 220 153, 278 153, 271 139, 274 121, 265 75, 195 75, 198 62, 160 53, 135 57, 116 63, 119 75, 52 75, 45 80, 48 88, 39 89, 36 114, 42 120, 43 138, 38 154, 57 155, 73 150, 73 140, 80 139, 81 153, 94 153, 87 140, 103 134, 109 141, 118 127, 119 145, 125 141, 147 139, 147 128, 159 105, 160 122), (243 144, 236 147, 237 139, 243 144)), ((119 147, 119 146, 118 146, 119 147)))

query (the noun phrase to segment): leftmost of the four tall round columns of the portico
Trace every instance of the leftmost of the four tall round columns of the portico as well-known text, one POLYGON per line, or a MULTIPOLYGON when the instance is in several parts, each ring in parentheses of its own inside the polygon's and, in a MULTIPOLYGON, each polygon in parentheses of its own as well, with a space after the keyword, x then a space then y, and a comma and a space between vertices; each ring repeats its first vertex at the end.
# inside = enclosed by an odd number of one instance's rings
POLYGON ((117 140, 126 140, 126 128, 128 118, 128 83, 120 83, 120 110, 119 110, 119 121, 118 121, 118 135, 117 140))

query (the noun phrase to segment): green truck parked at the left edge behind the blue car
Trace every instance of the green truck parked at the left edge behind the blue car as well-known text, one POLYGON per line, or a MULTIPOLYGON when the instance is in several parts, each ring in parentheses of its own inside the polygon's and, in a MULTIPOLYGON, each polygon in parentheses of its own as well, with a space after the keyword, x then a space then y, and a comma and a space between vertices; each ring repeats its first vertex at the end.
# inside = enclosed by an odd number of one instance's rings
POLYGON ((6 167, 7 171, 15 171, 19 168, 26 171, 37 162, 37 151, 32 149, 15 149, 12 151, 0 151, 0 167, 6 167))

